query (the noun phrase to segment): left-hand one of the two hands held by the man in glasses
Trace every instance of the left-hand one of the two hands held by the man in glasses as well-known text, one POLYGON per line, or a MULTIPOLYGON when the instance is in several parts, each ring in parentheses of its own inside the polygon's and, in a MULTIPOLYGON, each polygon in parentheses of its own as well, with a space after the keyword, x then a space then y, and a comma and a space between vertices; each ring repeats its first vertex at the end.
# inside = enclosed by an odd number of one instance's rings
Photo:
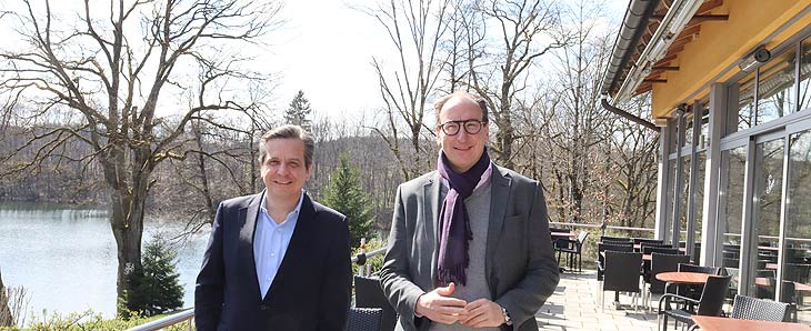
POLYGON ((453 324, 460 319, 467 319, 468 311, 464 307, 468 303, 464 300, 450 297, 455 288, 455 284, 450 283, 445 288, 437 288, 420 295, 417 299, 414 311, 431 321, 442 324, 453 324))

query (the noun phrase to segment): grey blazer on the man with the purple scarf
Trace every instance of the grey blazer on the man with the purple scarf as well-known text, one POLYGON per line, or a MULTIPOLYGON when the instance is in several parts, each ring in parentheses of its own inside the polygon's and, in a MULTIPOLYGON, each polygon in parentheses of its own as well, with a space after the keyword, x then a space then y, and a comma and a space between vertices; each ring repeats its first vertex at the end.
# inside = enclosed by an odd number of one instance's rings
MULTIPOLYGON (((549 234, 541 185, 501 167, 491 177, 485 278, 490 300, 507 309, 512 327, 538 330, 535 312, 558 285, 558 264, 549 234)), ((440 187, 437 171, 400 184, 380 281, 400 314, 397 330, 428 330, 414 317, 417 299, 437 287, 440 187)))

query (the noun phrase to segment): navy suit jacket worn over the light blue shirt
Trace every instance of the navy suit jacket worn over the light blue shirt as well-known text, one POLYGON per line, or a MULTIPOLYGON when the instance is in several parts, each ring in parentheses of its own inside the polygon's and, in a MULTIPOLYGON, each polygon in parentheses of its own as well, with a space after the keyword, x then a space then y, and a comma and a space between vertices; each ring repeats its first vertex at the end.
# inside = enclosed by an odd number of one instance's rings
POLYGON ((217 209, 194 291, 197 330, 344 330, 352 285, 347 218, 304 193, 279 272, 261 298, 253 260, 261 197, 217 209))

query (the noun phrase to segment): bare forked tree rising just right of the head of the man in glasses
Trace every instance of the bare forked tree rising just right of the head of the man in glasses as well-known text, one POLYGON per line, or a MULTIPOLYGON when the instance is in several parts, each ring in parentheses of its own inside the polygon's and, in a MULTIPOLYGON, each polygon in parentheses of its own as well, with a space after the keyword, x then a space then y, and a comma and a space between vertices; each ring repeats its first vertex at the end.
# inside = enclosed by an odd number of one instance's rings
MULTIPOLYGON (((530 69, 537 59, 549 50, 567 44, 567 33, 552 33, 559 27, 560 12, 552 3, 541 0, 477 2, 477 12, 485 24, 472 24, 472 29, 494 26, 498 38, 480 42, 475 36, 484 32, 467 32, 470 41, 468 63, 471 83, 492 111, 498 127, 495 144, 491 148, 501 164, 514 168, 513 143, 519 133, 513 124, 519 93, 527 87, 530 69), (551 41, 550 41, 551 40, 551 41)), ((474 21, 474 19, 471 19, 474 21)))

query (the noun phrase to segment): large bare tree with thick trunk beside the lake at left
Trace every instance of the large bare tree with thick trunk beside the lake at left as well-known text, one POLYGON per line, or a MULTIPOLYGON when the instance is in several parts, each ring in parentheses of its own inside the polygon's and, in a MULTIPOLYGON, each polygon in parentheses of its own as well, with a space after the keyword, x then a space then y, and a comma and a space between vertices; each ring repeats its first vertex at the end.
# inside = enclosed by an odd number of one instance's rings
POLYGON ((48 0, 22 4, 11 16, 20 43, 0 51, 0 97, 7 100, 3 118, 31 128, 17 151, 38 149, 24 160, 4 156, 4 173, 69 161, 100 164, 118 251, 118 297, 127 300, 141 272, 144 202, 156 167, 189 156, 190 122, 214 124, 256 107, 228 88, 257 77, 226 50, 274 27, 279 3, 120 0, 97 7, 86 0, 78 19, 48 0), (184 83, 191 70, 204 72, 199 86, 184 83), (196 94, 192 107, 172 98, 182 93, 196 94), (71 160, 60 153, 77 144, 91 152, 71 160))

